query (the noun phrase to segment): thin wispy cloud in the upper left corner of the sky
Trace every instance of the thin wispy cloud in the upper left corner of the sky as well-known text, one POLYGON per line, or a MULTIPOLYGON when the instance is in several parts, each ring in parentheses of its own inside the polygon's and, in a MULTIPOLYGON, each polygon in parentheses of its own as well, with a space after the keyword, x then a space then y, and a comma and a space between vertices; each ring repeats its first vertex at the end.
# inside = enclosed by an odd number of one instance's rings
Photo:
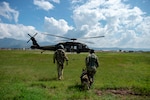
POLYGON ((14 20, 15 22, 18 22, 19 12, 12 9, 9 6, 9 3, 2 2, 2 3, 0 3, 0 16, 3 16, 4 18, 6 18, 10 21, 14 20))

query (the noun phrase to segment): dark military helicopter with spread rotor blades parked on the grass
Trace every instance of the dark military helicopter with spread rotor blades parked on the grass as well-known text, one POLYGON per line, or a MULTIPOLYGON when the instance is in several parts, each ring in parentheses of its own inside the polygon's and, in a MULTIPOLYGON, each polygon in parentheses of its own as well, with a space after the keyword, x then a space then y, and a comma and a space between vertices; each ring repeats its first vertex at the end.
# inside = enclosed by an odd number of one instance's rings
MULTIPOLYGON (((30 39, 29 41, 31 40, 32 41, 32 46, 31 46, 31 49, 41 49, 43 50, 41 53, 43 53, 45 50, 52 50, 52 51, 55 51, 58 49, 59 45, 63 45, 64 46, 64 50, 66 52, 77 52, 77 53, 80 53, 80 52, 88 52, 90 50, 90 48, 84 44, 84 43, 81 43, 81 42, 77 42, 77 38, 68 38, 68 37, 63 37, 63 36, 58 36, 58 35, 53 35, 53 34, 46 34, 46 35, 50 35, 50 36, 54 36, 54 37, 59 37, 59 38, 64 38, 66 40, 70 40, 70 41, 66 41, 66 42, 60 42, 60 43, 57 43, 55 45, 49 45, 49 46, 40 46, 36 39, 35 39, 35 36, 37 35, 37 33, 33 36, 31 36, 30 34, 28 34, 30 36, 30 39)), ((104 37, 104 36, 95 36, 95 37, 86 37, 86 38, 83 38, 83 39, 90 39, 90 38, 101 38, 101 37, 104 37)), ((27 41, 27 43, 29 42, 27 41)))

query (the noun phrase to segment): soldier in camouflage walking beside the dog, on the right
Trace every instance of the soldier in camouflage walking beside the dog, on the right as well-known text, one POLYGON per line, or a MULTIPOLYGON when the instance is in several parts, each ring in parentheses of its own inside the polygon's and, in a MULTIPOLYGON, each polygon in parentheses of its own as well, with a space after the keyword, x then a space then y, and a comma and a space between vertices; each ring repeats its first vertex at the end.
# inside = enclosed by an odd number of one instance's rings
POLYGON ((89 55, 85 59, 85 63, 86 63, 87 74, 88 74, 88 78, 89 78, 90 86, 91 86, 94 82, 94 75, 96 73, 96 69, 97 67, 99 67, 98 58, 95 55, 95 52, 93 49, 90 50, 89 55))

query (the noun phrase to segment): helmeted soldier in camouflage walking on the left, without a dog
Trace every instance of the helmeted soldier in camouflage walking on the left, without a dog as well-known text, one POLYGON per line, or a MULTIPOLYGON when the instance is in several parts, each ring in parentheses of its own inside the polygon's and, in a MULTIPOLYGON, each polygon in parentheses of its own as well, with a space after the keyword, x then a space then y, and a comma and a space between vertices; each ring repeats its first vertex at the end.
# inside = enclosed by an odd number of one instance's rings
POLYGON ((58 49, 55 51, 53 56, 53 62, 55 63, 55 60, 57 61, 57 71, 59 80, 63 79, 63 69, 65 60, 68 65, 68 57, 66 56, 65 51, 63 49, 63 45, 59 45, 58 49))

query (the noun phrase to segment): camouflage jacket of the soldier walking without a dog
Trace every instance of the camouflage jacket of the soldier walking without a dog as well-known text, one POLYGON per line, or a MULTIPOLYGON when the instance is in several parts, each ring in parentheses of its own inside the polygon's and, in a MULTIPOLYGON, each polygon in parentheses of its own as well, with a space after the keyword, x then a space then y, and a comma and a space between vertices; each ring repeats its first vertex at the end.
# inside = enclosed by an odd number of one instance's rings
POLYGON ((63 49, 58 49, 55 51, 54 57, 53 57, 54 63, 55 63, 55 60, 59 64, 63 64, 65 60, 68 61, 68 57, 66 56, 65 51, 63 49))

